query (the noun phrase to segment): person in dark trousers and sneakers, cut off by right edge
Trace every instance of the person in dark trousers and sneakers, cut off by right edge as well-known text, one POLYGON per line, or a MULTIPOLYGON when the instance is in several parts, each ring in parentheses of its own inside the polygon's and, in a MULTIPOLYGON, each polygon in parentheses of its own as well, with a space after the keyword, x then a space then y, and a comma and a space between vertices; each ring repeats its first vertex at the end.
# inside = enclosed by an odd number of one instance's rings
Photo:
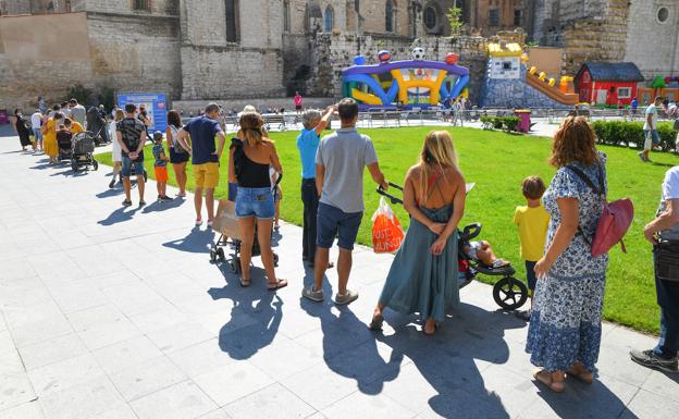
POLYGON ((661 307, 661 340, 646 350, 631 350, 632 360, 644 367, 677 372, 679 352, 679 165, 667 171, 663 198, 655 220, 644 227, 653 244, 655 291, 661 307))

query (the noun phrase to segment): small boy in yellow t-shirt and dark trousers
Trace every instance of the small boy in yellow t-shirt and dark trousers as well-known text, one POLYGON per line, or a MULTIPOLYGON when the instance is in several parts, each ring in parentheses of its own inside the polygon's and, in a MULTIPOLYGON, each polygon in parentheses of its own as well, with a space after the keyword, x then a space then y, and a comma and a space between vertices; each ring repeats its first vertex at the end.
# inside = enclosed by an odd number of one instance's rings
MULTIPOLYGON (((522 183, 522 192, 528 205, 517 207, 514 213, 514 223, 519 227, 521 259, 526 261, 526 276, 528 279, 528 288, 530 289, 532 310, 532 297, 536 282, 534 269, 535 263, 542 258, 544 252, 550 213, 544 209, 540 200, 545 193, 545 185, 539 176, 526 177, 522 183)), ((517 316, 526 321, 530 321, 531 310, 520 311, 517 316)))

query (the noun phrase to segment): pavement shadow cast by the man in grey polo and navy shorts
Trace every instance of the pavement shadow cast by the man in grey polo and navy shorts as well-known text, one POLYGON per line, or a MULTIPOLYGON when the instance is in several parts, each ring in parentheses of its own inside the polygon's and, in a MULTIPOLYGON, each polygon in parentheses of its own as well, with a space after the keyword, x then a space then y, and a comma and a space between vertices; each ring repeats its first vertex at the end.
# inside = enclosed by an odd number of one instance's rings
MULTIPOLYGON (((313 271, 307 270, 305 286, 313 282, 313 271)), ((347 306, 335 306, 331 300, 332 287, 323 281, 325 300, 314 303, 301 297, 300 307, 321 321, 323 332, 323 360, 335 373, 356 380, 366 394, 379 394, 384 383, 393 381, 400 372, 403 353, 393 350, 385 361, 378 352, 376 340, 347 306), (333 307, 336 309, 333 310, 333 307), (338 311, 335 315, 333 311, 338 311)))

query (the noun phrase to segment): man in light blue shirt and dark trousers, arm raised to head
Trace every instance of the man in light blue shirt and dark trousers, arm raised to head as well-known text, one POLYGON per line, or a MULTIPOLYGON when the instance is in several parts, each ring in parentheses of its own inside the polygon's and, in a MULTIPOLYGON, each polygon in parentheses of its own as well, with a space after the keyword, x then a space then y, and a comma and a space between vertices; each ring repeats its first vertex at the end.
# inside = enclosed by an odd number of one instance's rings
POLYGON ((321 143, 321 133, 336 107, 325 108, 323 114, 317 110, 306 111, 301 116, 304 128, 297 137, 297 148, 301 158, 301 201, 304 202, 304 232, 301 259, 313 266, 316 257, 316 223, 319 196, 316 188, 316 153, 321 143))

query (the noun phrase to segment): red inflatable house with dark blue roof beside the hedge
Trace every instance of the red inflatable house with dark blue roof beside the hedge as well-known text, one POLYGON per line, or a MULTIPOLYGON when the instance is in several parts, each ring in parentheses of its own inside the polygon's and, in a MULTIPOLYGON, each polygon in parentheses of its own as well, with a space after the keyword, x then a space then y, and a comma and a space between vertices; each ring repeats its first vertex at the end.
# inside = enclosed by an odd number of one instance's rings
POLYGON ((639 82, 643 82, 632 62, 585 62, 576 75, 576 91, 581 102, 627 106, 637 97, 639 82))

